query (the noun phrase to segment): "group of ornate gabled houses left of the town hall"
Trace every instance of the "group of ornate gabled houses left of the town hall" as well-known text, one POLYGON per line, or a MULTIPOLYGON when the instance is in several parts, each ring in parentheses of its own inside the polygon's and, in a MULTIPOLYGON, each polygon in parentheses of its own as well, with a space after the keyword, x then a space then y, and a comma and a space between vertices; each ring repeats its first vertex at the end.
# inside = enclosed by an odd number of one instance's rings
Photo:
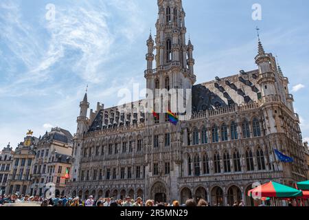
POLYGON ((54 186, 54 195, 64 195, 66 172, 71 170, 72 139, 69 131, 54 128, 43 137, 28 133, 24 141, 12 151, 10 144, 0 155, 0 183, 2 194, 45 196, 54 186))

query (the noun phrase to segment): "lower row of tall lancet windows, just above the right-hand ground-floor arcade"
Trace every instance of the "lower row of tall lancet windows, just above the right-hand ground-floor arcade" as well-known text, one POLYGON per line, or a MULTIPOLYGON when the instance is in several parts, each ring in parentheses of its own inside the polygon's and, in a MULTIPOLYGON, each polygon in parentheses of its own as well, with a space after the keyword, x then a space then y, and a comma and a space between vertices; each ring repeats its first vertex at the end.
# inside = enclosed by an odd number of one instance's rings
MULTIPOLYGON (((223 153, 223 166, 221 167, 221 158, 218 152, 214 153, 214 173, 231 173, 231 163, 233 163, 233 172, 242 172, 242 166, 240 163, 240 154, 236 150, 233 152, 232 157, 230 157, 229 153, 225 151, 223 153), (223 168, 223 170, 221 170, 223 168)), ((257 165, 258 170, 265 170, 265 159, 264 159, 264 153, 261 148, 258 148, 256 151, 256 159, 257 159, 257 165)), ((247 171, 253 171, 254 163, 253 163, 253 154, 252 151, 248 148, 245 153, 245 166, 247 167, 247 171)), ((191 156, 187 158, 187 170, 188 175, 192 175, 192 166, 193 166, 193 172, 194 176, 201 175, 201 164, 202 164, 202 172, 203 175, 207 175, 210 173, 209 170, 209 157, 207 154, 203 155, 202 161, 200 160, 200 157, 198 155, 195 155, 193 157, 193 161, 191 156)))

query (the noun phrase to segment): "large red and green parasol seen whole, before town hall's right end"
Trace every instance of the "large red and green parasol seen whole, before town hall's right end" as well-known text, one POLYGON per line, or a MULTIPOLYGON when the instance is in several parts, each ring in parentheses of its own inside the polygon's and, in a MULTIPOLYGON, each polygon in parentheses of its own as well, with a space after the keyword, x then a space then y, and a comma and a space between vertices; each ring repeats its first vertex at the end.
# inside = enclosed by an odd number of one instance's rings
POLYGON ((270 181, 267 184, 258 186, 248 191, 249 197, 301 197, 303 193, 301 190, 278 184, 274 181, 270 181))

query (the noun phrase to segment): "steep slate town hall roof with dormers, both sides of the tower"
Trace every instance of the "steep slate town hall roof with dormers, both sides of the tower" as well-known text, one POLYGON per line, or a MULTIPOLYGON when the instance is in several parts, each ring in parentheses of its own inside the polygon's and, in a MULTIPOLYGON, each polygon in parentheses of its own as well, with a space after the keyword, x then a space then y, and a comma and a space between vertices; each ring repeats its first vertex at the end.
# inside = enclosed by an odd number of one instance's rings
MULTIPOLYGON (((239 74, 201 83, 192 87, 192 111, 205 111, 216 107, 228 107, 232 104, 258 101, 258 69, 251 72, 240 71, 239 74)), ((140 102, 140 101, 139 101, 140 102)), ((126 104, 131 106, 138 102, 126 104)), ((124 124, 144 122, 144 115, 130 109, 130 113, 121 113, 117 107, 101 109, 89 127, 89 131, 113 128, 124 124), (129 117, 128 117, 129 115, 129 117)))

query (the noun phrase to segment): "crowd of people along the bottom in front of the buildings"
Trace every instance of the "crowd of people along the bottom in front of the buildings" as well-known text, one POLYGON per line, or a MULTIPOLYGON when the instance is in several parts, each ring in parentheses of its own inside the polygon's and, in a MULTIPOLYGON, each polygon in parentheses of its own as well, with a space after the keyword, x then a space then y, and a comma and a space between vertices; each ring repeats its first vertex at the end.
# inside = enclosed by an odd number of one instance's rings
MULTIPOLYGON (((179 201, 174 200, 172 203, 155 202, 152 199, 148 199, 143 202, 141 197, 137 199, 132 199, 131 197, 126 197, 126 199, 114 199, 111 198, 100 198, 94 199, 93 196, 89 196, 87 200, 82 200, 79 197, 71 198, 66 196, 56 196, 54 198, 45 199, 39 196, 30 195, 3 195, 0 196, 0 206, 5 205, 5 203, 20 203, 20 202, 37 202, 41 206, 210 206, 210 204, 205 201, 205 199, 187 199, 185 204, 181 204, 179 201)), ((215 204, 215 206, 220 206, 220 204, 215 204)), ((235 201, 233 206, 244 206, 244 202, 235 201)))

